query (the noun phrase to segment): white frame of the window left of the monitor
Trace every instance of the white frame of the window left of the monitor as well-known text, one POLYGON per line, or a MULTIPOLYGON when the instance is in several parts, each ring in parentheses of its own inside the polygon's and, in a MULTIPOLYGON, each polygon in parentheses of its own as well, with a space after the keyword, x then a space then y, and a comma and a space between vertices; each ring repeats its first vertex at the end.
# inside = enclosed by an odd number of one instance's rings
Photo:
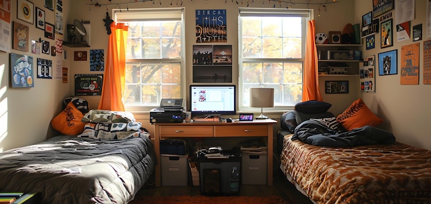
MULTIPOLYGON (((120 9, 113 9, 112 10, 112 16, 114 16, 115 22, 121 22, 121 23, 127 23, 131 21, 138 21, 138 20, 147 20, 147 21, 154 21, 154 20, 172 20, 172 19, 178 19, 175 16, 178 15, 178 12, 180 12, 180 21, 181 21, 181 49, 180 49, 180 57, 179 58, 149 58, 149 59, 127 59, 126 63, 161 63, 161 64, 167 64, 167 63, 178 63, 180 65, 180 98, 186 97, 186 90, 185 90, 185 72, 186 72, 186 56, 185 56, 185 50, 186 50, 186 41, 185 41, 185 8, 138 8, 138 9, 129 9, 129 10, 120 10, 120 9), (169 15, 169 13, 173 15, 169 15), (118 17, 118 15, 120 17, 118 17), (144 17, 143 17, 144 16, 144 17), (147 16, 147 18, 145 18, 147 16), (143 19, 139 19, 142 18, 143 19), (121 19, 123 18, 123 19, 121 19)), ((147 112, 151 109, 157 108, 159 105, 143 105, 143 104, 125 104, 125 109, 127 111, 132 112, 147 112)))

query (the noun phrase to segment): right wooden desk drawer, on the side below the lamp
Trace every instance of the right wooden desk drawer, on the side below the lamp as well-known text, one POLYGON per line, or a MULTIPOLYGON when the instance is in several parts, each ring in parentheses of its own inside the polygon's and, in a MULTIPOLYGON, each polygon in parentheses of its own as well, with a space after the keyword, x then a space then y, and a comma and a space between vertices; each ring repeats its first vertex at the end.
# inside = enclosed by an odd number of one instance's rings
POLYGON ((267 125, 214 126, 214 137, 249 137, 267 135, 267 125))

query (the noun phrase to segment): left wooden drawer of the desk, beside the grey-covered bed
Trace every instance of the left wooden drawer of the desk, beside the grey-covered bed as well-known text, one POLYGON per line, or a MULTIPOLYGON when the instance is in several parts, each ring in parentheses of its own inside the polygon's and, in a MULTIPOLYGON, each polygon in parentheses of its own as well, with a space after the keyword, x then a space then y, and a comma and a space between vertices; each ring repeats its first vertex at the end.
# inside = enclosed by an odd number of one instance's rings
POLYGON ((159 126, 160 137, 213 137, 213 126, 159 126))

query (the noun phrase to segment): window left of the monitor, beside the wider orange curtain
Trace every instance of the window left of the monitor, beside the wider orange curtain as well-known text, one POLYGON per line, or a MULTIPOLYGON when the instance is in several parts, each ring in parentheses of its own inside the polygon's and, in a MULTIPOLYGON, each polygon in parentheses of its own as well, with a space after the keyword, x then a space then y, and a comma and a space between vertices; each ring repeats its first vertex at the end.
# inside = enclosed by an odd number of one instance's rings
POLYGON ((162 98, 182 97, 184 21, 182 9, 114 10, 129 25, 125 106, 159 106, 162 98))

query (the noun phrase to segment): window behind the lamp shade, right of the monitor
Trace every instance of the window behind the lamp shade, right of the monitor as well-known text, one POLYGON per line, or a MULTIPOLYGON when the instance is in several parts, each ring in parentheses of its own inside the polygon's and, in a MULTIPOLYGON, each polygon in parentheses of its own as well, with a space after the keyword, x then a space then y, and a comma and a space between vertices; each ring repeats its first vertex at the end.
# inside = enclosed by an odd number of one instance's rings
POLYGON ((240 8, 240 109, 247 109, 249 88, 274 88, 275 109, 302 100, 306 23, 310 10, 240 8))

